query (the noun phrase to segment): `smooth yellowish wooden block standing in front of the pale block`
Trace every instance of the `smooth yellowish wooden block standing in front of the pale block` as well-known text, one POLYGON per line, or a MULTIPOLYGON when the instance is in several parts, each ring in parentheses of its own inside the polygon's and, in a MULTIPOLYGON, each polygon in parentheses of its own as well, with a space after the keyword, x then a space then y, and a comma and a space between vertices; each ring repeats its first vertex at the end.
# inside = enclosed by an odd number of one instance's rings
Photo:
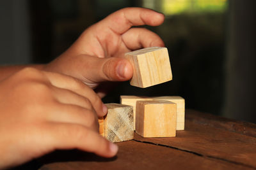
POLYGON ((177 104, 170 101, 137 101, 136 132, 144 138, 176 136, 177 104))

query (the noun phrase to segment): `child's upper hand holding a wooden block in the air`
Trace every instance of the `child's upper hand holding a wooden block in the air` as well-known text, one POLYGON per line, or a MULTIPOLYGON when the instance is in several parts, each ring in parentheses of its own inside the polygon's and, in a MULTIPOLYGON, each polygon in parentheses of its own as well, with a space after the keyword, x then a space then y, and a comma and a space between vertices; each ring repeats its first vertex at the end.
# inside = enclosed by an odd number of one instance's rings
POLYGON ((47 64, 45 69, 74 76, 93 89, 102 81, 129 80, 132 66, 122 58, 124 53, 149 46, 164 46, 154 32, 132 26, 156 26, 163 21, 163 14, 145 8, 116 11, 86 29, 74 45, 47 64))

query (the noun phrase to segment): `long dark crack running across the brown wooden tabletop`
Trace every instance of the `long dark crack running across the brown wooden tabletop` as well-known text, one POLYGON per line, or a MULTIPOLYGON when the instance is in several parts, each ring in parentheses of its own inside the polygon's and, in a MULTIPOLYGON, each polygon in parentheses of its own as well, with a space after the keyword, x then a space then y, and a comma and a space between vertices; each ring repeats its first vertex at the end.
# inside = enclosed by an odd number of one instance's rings
POLYGON ((233 161, 233 160, 223 159, 223 158, 220 158, 220 157, 213 157, 213 156, 210 156, 210 155, 202 155, 201 153, 193 152, 193 151, 190 151, 190 150, 180 149, 180 148, 177 148, 177 147, 174 147, 174 146, 163 145, 163 144, 153 143, 153 142, 149 142, 149 141, 140 141, 140 140, 137 140, 137 139, 132 139, 132 140, 136 141, 136 142, 140 142, 140 143, 147 143, 149 145, 164 146, 166 148, 172 148, 172 149, 175 149, 175 150, 179 150, 181 152, 192 153, 193 155, 196 155, 198 157, 207 157, 207 158, 211 158, 211 159, 222 160, 222 161, 229 162, 229 163, 232 163, 232 164, 236 164, 236 165, 239 165, 239 166, 246 166, 246 167, 256 169, 256 167, 254 167, 254 166, 243 164, 241 162, 236 162, 236 161, 233 161))

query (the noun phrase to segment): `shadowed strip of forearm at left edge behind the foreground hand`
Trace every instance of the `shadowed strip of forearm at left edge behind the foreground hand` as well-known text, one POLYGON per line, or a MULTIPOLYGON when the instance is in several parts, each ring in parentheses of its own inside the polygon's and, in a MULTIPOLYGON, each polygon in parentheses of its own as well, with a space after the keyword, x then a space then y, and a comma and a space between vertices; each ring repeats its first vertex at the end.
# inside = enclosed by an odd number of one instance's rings
POLYGON ((0 81, 4 80, 4 78, 20 71, 24 67, 34 67, 36 69, 42 69, 44 64, 28 64, 28 65, 13 65, 13 66, 0 66, 0 81))

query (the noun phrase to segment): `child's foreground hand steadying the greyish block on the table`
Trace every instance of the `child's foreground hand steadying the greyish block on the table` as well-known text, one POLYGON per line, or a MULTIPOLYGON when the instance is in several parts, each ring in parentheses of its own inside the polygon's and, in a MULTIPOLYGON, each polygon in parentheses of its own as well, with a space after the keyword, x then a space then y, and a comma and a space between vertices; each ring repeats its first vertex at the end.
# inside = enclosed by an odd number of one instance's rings
POLYGON ((100 98, 75 78, 26 68, 0 82, 0 169, 56 149, 113 157, 116 145, 99 135, 100 98))

